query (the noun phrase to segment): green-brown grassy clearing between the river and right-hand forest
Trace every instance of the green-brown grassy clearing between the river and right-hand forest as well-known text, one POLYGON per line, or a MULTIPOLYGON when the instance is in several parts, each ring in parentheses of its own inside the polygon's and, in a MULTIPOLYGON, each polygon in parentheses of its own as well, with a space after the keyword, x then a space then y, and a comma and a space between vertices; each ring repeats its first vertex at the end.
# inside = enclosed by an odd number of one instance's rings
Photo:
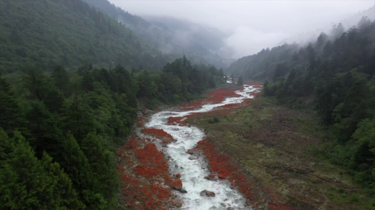
POLYGON ((315 158, 314 147, 324 142, 314 116, 258 96, 228 115, 201 114, 187 122, 204 128, 208 139, 281 201, 305 209, 369 209, 371 199, 345 170, 315 158))

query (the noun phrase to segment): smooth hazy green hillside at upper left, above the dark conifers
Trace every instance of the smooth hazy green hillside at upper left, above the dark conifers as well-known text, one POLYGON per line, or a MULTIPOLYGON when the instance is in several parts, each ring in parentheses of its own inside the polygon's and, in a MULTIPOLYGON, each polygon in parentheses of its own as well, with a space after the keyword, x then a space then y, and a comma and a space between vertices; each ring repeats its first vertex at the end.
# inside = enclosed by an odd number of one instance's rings
POLYGON ((28 65, 77 68, 85 62, 160 69, 169 61, 150 42, 80 0, 2 0, 0 19, 1 72, 28 65))

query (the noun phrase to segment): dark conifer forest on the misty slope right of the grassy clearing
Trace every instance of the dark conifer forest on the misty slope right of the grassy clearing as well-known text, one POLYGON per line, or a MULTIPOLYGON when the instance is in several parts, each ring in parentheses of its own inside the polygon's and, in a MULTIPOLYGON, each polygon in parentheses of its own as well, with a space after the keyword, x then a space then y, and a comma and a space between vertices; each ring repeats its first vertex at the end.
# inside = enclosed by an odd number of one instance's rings
POLYGON ((244 57, 237 74, 267 80, 264 95, 291 107, 314 108, 329 143, 322 158, 349 169, 375 195, 375 23, 363 17, 345 31, 321 33, 306 47, 284 44, 244 57))

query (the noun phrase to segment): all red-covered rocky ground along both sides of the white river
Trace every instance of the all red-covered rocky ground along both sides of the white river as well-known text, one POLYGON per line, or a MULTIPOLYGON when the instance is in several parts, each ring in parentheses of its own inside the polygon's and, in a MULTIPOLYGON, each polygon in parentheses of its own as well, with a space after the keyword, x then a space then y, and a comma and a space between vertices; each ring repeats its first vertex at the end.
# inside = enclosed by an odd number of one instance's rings
MULTIPOLYGON (((257 85, 258 83, 248 83, 257 85)), ((238 97, 236 90, 243 90, 243 87, 236 89, 221 89, 207 94, 207 98, 202 101, 181 105, 182 110, 192 110, 200 108, 204 104, 219 103, 227 97, 238 97)), ((257 95, 259 93, 253 93, 257 95)), ((240 106, 247 106, 252 99, 246 99, 241 104, 227 104, 219 106, 217 109, 206 113, 192 113, 185 117, 169 117, 168 124, 180 124, 187 126, 184 119, 195 117, 196 115, 223 115, 229 114, 233 109, 240 106)), ((144 117, 138 119, 137 126, 143 127, 144 117)), ((142 133, 161 139, 162 145, 172 142, 171 135, 162 129, 142 129, 142 133)), ((181 180, 173 180, 169 174, 168 161, 164 154, 156 148, 153 141, 156 139, 141 138, 134 135, 129 138, 128 143, 118 151, 121 157, 119 172, 123 180, 123 200, 129 209, 152 209, 166 210, 168 207, 180 207, 182 202, 174 197, 172 188, 179 188, 181 180)), ((244 195, 249 205, 254 209, 265 207, 272 210, 291 210, 288 204, 278 202, 277 198, 258 185, 254 179, 242 166, 231 160, 229 155, 223 154, 215 146, 214 140, 209 137, 198 142, 196 148, 189 150, 189 153, 200 153, 206 157, 212 171, 211 178, 217 176, 219 179, 228 179, 233 187, 237 187, 244 195)))

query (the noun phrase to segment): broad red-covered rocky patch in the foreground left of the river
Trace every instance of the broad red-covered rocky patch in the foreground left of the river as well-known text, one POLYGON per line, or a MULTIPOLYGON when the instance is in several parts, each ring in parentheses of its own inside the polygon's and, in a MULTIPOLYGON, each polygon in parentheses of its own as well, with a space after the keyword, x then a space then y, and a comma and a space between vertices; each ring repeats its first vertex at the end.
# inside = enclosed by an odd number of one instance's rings
POLYGON ((124 203, 132 209, 166 210, 171 191, 157 183, 171 183, 168 163, 153 143, 139 148, 145 142, 134 135, 118 152, 124 203))

